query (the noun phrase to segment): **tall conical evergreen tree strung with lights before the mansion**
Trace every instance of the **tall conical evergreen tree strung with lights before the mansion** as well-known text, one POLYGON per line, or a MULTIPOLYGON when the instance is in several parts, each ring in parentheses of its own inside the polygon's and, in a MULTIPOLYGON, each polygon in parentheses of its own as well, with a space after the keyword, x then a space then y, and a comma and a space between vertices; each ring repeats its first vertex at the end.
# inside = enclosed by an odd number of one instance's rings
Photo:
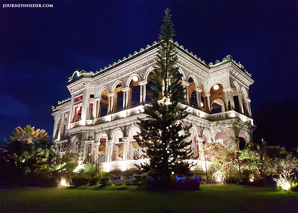
POLYGON ((144 113, 148 116, 141 121, 141 133, 136 137, 139 146, 144 148, 150 163, 142 164, 140 169, 151 171, 153 179, 170 184, 171 175, 188 175, 190 163, 188 160, 193 153, 191 141, 187 141, 186 132, 191 126, 184 128, 180 122, 186 118, 186 108, 178 107, 179 102, 185 101, 185 91, 179 85, 181 77, 178 74, 176 44, 173 42, 174 29, 170 20, 170 10, 165 10, 164 25, 159 35, 160 49, 158 61, 154 66, 152 81, 156 83, 149 91, 154 100, 152 104, 144 106, 144 113))

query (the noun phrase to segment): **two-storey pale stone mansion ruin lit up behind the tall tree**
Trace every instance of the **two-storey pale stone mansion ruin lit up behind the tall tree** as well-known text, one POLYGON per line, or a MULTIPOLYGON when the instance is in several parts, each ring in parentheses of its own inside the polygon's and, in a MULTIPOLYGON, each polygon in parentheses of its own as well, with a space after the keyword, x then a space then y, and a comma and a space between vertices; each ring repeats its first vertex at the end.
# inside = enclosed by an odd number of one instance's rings
MULTIPOLYGON (((53 141, 60 154, 78 154, 77 162, 97 163, 105 170, 134 169, 136 155, 142 150, 133 136, 140 131, 137 118, 144 117, 142 105, 152 100, 146 95, 154 83, 153 65, 159 44, 100 72, 75 71, 69 78, 71 98, 58 101, 53 108, 53 141), (118 155, 123 160, 116 161, 118 155)), ((194 156, 194 170, 204 170, 203 141, 225 143, 238 149, 252 141, 253 120, 249 86, 254 82, 244 67, 227 55, 213 65, 177 45, 181 87, 187 91, 184 104, 190 115, 182 122, 189 130, 194 156)))

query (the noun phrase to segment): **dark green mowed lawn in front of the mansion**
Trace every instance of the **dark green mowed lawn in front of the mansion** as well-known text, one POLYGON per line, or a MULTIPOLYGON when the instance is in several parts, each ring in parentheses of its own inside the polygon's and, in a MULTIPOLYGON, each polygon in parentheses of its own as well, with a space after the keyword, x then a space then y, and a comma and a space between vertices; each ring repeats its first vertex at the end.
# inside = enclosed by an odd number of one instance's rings
POLYGON ((298 193, 240 185, 152 192, 136 186, 2 189, 0 212, 297 212, 298 193))

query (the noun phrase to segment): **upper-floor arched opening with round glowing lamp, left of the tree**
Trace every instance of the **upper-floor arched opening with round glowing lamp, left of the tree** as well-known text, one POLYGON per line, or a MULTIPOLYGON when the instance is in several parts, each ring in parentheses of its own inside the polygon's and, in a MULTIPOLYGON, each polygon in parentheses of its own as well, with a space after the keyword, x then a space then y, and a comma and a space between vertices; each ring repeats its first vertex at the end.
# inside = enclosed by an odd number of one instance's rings
POLYGON ((140 85, 139 85, 140 79, 138 76, 134 76, 130 83, 129 83, 129 97, 128 97, 128 109, 134 108, 136 106, 139 106, 141 104, 140 102, 140 85))

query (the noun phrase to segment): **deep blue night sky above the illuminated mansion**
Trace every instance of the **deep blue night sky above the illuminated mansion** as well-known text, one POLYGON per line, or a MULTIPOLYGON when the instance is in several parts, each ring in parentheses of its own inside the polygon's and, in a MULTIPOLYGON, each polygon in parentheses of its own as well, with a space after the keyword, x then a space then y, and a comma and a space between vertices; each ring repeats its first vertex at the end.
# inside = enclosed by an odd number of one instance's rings
MULTIPOLYGON (((24 1, 1 1, 0 141, 28 124, 51 137, 51 106, 70 97, 68 77, 76 69, 95 72, 158 41, 167 7, 179 45, 206 64, 231 54, 252 73, 258 125, 266 103, 297 102, 297 2, 26 1, 53 8, 2 8, 24 1)), ((280 113, 292 116, 291 110, 297 115, 291 106, 280 113)))

